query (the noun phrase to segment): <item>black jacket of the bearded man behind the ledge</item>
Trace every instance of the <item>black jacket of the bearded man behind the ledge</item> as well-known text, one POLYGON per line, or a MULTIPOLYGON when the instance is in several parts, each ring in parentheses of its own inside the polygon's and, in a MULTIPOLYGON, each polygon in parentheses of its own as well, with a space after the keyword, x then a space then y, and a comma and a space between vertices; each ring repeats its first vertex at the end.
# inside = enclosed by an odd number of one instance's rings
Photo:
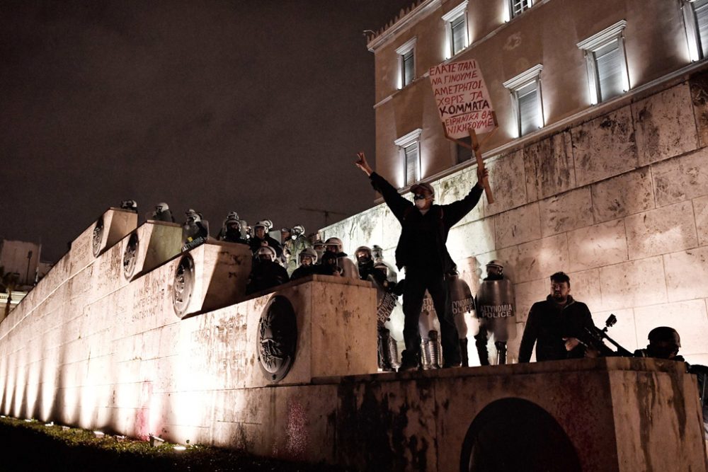
POLYGON ((584 357, 585 347, 578 345, 566 351, 563 338, 588 338, 584 328, 595 326, 588 306, 568 296, 565 305, 557 304, 550 295, 531 307, 519 347, 519 362, 529 362, 536 344, 536 360, 549 361, 584 357))

